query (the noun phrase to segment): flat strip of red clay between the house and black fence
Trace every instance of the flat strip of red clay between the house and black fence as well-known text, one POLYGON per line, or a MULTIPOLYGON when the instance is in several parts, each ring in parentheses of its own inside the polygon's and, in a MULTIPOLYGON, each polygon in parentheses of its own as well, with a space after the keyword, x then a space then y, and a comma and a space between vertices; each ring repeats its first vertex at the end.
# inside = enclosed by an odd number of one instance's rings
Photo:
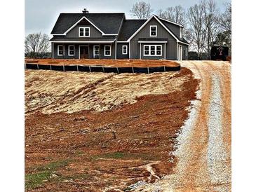
POLYGON ((52 64, 52 65, 105 65, 112 67, 178 67, 179 63, 170 60, 59 60, 59 59, 25 59, 26 63, 52 64))

